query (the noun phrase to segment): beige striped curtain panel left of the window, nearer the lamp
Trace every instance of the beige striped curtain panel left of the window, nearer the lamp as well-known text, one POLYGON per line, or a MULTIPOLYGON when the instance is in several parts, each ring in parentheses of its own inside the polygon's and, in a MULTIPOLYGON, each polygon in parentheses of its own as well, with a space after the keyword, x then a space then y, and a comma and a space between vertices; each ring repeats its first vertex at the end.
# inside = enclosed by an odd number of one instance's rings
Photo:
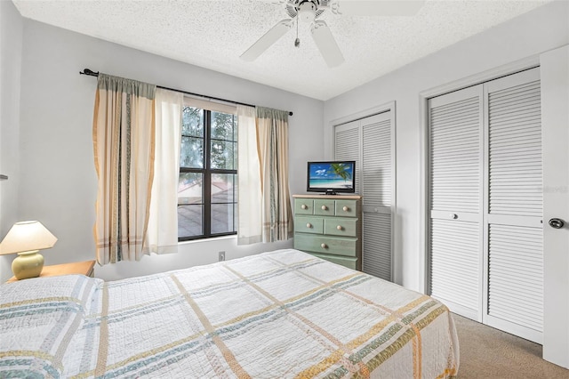
POLYGON ((139 260, 154 177, 156 85, 99 74, 93 114, 97 262, 139 260))

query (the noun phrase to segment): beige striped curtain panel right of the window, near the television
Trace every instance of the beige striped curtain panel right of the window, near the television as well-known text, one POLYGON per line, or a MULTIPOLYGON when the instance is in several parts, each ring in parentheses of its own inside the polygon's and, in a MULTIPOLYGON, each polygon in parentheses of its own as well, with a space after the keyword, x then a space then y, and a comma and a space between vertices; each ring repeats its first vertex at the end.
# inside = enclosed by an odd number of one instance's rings
POLYGON ((288 189, 288 113, 257 107, 257 146, 260 164, 262 241, 293 235, 288 189))

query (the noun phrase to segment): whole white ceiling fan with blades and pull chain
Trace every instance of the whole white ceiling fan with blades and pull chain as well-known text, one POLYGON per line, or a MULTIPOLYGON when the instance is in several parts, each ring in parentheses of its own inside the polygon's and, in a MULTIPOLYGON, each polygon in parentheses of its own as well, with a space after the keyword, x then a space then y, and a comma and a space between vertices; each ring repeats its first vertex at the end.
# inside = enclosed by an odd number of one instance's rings
MULTIPOLYGON (((310 22, 310 32, 328 67, 339 66, 344 61, 340 47, 325 20, 318 20, 324 12, 348 16, 410 16, 421 9, 424 0, 264 0, 284 4, 288 19, 280 20, 273 28, 251 45, 243 54, 243 60, 256 60, 272 44, 284 36, 298 22, 310 22)), ((297 29, 298 30, 298 29, 297 29)), ((298 31, 297 31, 298 34, 298 31)), ((298 36, 294 42, 298 46, 298 36)))

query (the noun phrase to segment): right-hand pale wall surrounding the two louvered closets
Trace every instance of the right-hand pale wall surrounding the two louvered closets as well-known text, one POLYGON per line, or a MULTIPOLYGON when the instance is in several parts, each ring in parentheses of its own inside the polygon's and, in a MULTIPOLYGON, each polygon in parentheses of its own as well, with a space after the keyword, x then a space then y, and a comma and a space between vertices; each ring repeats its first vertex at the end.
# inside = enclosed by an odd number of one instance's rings
MULTIPOLYGON (((333 156, 333 121, 396 101, 397 214, 394 279, 424 291, 421 242, 419 93, 569 43, 569 2, 546 4, 477 36, 325 101, 325 157, 333 156)), ((452 33, 452 30, 449 30, 452 33)))

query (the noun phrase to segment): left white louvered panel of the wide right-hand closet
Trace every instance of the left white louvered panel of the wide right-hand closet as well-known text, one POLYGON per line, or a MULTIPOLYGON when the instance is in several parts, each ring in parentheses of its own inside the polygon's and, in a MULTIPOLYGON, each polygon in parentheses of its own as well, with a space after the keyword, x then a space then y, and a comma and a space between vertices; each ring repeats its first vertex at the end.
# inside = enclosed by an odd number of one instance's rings
POLYGON ((482 85, 429 100, 429 289, 482 320, 482 85))

